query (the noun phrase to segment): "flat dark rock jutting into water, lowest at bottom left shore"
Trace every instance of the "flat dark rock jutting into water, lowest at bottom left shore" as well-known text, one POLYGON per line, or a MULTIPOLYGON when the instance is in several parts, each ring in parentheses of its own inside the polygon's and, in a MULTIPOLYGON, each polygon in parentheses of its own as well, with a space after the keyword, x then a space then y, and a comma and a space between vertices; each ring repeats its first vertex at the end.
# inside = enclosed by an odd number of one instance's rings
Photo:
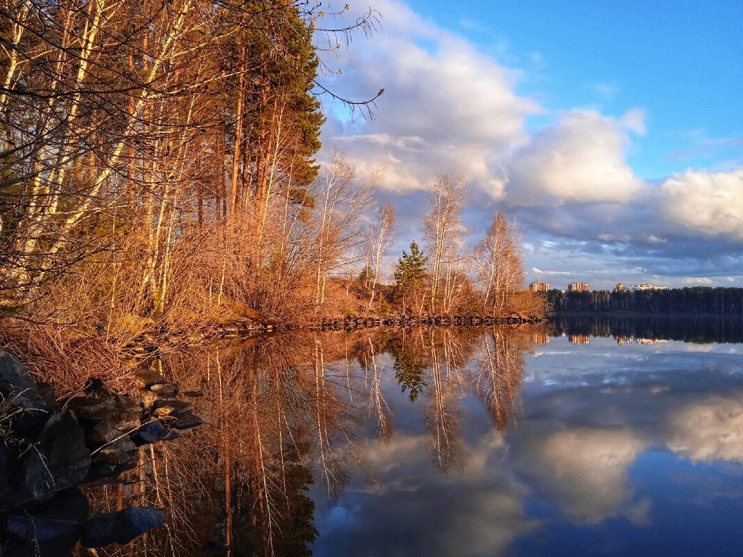
POLYGON ((85 524, 81 543, 84 547, 127 544, 137 535, 158 527, 165 521, 163 509, 127 507, 119 512, 97 515, 85 524))

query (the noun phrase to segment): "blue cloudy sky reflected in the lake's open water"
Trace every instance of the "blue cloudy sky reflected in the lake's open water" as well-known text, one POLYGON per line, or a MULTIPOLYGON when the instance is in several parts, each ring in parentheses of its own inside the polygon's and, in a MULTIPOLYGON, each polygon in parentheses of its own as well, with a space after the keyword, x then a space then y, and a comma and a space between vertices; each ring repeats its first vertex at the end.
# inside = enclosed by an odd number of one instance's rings
POLYGON ((444 347, 413 403, 399 351, 373 356, 359 465, 311 489, 314 555, 743 554, 743 345, 558 332, 510 349, 505 386, 494 337, 444 347))

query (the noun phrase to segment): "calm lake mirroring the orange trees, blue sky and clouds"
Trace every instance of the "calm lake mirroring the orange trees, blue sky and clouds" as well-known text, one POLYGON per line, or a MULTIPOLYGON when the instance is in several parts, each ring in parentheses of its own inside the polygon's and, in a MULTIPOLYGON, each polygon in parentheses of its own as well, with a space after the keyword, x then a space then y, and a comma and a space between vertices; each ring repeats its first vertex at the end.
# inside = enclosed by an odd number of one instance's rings
POLYGON ((172 509, 135 553, 743 555, 741 327, 565 317, 175 354, 207 423, 97 505, 172 509))

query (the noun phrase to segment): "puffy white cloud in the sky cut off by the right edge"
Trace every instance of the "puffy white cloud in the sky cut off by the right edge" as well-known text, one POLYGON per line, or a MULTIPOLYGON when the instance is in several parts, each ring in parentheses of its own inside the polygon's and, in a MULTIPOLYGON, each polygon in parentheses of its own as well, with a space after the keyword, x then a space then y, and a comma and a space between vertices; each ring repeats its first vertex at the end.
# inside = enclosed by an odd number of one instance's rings
POLYGON ((743 169, 673 175, 661 186, 663 216, 704 235, 743 241, 743 169))

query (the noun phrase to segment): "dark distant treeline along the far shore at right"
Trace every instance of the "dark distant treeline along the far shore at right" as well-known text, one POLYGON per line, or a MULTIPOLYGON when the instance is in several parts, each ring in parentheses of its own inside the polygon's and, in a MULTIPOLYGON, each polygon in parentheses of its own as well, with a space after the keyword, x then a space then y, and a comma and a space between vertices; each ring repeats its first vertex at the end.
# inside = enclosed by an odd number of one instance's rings
POLYGON ((743 288, 687 287, 566 293, 549 290, 546 296, 550 307, 556 312, 632 310, 640 313, 743 315, 743 288))

